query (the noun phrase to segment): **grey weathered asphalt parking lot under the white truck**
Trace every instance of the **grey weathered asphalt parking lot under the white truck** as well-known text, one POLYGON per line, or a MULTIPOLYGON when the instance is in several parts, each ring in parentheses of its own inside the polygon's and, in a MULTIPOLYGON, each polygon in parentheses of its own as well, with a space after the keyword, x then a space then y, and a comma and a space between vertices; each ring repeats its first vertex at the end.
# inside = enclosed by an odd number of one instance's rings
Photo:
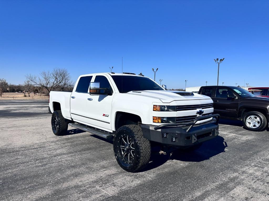
POLYGON ((269 200, 269 131, 221 120, 191 152, 125 172, 111 142, 51 131, 48 101, 0 101, 0 200, 269 200))

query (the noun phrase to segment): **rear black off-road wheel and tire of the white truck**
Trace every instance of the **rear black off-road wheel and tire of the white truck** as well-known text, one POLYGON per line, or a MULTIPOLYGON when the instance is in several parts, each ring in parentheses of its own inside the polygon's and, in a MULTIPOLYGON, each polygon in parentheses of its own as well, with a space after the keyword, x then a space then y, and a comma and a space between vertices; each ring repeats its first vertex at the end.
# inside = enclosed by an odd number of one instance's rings
POLYGON ((63 118, 61 110, 56 110, 52 113, 51 116, 51 128, 54 135, 65 135, 67 132, 69 121, 63 118), (55 121, 58 121, 58 124, 55 125, 55 121))

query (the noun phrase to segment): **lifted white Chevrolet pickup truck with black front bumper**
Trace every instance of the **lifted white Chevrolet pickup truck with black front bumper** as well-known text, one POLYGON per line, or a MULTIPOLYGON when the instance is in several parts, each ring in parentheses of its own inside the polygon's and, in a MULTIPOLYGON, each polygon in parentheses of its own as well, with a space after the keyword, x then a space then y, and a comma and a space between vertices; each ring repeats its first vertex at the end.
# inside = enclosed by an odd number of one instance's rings
POLYGON ((219 134, 219 115, 210 97, 169 91, 134 73, 81 75, 73 91, 51 91, 49 112, 55 135, 68 125, 113 139, 124 170, 136 172, 150 161, 151 146, 165 154, 171 147, 191 147, 219 134))

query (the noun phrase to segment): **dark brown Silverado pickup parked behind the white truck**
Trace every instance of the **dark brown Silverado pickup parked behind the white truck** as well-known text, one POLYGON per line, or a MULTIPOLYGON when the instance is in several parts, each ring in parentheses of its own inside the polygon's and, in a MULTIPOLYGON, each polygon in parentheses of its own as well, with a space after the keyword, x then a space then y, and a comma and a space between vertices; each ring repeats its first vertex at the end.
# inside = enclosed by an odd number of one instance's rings
POLYGON ((199 94, 214 101, 214 113, 223 118, 238 119, 250 131, 262 131, 269 122, 269 99, 256 97, 233 86, 203 86, 199 94))

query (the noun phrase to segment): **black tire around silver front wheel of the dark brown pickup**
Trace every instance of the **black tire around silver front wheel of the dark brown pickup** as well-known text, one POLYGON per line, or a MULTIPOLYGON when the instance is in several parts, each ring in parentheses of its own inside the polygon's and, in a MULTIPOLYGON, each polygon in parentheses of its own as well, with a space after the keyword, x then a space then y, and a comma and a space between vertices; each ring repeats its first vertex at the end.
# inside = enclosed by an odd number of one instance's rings
POLYGON ((265 129, 265 127, 267 126, 267 120, 266 117, 264 116, 263 113, 257 112, 257 111, 252 111, 252 112, 248 112, 244 115, 243 117, 243 125, 244 128, 249 130, 249 131, 262 131, 263 129, 265 129), (247 125, 247 119, 250 116, 256 116, 259 118, 260 120, 260 125, 257 128, 251 128, 249 125, 247 125))

